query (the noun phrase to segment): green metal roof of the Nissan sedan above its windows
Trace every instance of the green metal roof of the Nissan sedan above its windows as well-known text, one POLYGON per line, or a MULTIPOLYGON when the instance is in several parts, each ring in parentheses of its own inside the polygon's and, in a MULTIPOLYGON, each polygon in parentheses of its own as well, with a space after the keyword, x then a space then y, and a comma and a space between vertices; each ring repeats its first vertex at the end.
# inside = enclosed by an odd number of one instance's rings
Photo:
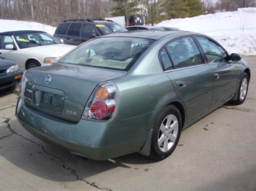
POLYGON ((172 30, 144 30, 144 31, 135 30, 135 31, 129 31, 129 32, 112 33, 112 34, 107 34, 100 37, 137 37, 137 38, 157 40, 167 36, 172 38, 172 37, 181 37, 181 36, 190 35, 190 34, 199 34, 199 33, 182 31, 182 30, 173 30, 173 31, 172 30))

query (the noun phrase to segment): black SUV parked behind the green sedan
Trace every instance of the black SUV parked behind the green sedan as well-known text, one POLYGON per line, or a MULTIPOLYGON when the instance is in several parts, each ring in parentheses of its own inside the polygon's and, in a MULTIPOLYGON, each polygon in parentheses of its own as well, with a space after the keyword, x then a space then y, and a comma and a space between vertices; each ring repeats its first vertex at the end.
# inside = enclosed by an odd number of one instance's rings
POLYGON ((125 27, 111 20, 78 19, 61 22, 53 36, 63 39, 64 44, 80 45, 94 37, 125 31, 125 27))

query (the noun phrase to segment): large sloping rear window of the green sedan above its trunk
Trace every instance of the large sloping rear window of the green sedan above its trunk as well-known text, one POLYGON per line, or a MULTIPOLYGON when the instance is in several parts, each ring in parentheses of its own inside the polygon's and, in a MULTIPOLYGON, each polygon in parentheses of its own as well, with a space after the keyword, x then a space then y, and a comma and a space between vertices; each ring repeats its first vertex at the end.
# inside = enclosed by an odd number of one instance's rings
POLYGON ((77 47, 57 62, 127 70, 128 65, 142 55, 152 39, 104 37, 77 47))

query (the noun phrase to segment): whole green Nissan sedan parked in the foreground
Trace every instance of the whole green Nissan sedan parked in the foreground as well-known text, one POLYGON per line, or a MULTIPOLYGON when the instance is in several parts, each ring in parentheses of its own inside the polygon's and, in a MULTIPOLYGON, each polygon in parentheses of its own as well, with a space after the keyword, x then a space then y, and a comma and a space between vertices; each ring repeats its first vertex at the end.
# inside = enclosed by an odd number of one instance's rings
POLYGON ((243 103, 249 82, 247 62, 203 34, 109 34, 25 71, 16 116, 72 154, 162 160, 183 129, 228 101, 243 103))

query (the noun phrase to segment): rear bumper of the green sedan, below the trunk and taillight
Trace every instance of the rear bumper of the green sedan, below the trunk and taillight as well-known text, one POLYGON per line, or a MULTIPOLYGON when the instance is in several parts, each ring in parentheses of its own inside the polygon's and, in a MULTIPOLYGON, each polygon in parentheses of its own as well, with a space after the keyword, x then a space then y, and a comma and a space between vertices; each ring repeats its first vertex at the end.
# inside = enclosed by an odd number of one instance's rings
MULTIPOLYGON (((17 103, 16 116, 19 123, 38 139, 94 160, 140 152, 148 136, 146 132, 141 136, 134 126, 133 129, 124 130, 126 125, 123 121, 80 120, 77 124, 63 121, 35 111, 22 99, 17 103)), ((141 126, 140 130, 142 132, 141 126)))

